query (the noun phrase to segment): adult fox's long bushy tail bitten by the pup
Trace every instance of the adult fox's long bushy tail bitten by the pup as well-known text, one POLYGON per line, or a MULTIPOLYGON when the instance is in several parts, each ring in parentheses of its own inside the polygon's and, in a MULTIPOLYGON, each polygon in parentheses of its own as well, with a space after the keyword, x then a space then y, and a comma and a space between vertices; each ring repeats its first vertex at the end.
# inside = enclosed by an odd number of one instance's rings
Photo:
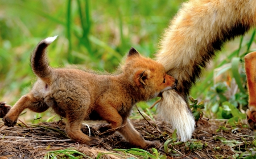
POLYGON ((158 110, 160 118, 177 128, 181 141, 190 139, 195 128, 187 96, 201 69, 224 42, 243 35, 255 22, 255 0, 191 0, 171 21, 156 57, 178 83, 175 91, 163 93, 158 110))

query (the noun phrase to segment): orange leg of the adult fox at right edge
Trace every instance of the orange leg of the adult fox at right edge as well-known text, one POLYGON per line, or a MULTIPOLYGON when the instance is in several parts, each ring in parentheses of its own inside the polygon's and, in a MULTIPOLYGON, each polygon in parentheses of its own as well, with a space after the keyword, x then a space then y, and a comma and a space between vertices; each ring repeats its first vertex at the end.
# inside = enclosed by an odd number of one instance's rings
POLYGON ((245 71, 249 92, 247 122, 250 128, 256 130, 256 51, 245 56, 245 71))

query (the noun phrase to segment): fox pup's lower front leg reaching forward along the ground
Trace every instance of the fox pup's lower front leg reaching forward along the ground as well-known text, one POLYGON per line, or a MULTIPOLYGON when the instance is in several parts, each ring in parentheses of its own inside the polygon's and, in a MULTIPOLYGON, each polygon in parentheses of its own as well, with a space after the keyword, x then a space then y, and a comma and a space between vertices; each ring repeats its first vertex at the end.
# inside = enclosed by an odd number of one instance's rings
POLYGON ((125 139, 129 141, 129 143, 141 148, 147 148, 150 146, 156 146, 156 147, 161 146, 159 141, 144 140, 142 135, 139 134, 137 130, 135 130, 133 125, 130 123, 129 119, 127 119, 126 123, 123 122, 123 124, 124 125, 122 126, 122 128, 119 128, 118 132, 120 132, 123 135, 123 137, 125 137, 125 139))

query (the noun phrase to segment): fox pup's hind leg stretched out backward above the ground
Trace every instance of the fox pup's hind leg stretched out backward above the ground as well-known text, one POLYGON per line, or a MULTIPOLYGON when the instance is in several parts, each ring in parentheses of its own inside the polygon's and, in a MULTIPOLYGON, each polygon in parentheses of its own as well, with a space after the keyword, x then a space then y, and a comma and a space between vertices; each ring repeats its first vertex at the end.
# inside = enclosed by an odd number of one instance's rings
POLYGON ((3 122, 5 125, 9 127, 15 126, 19 114, 22 113, 22 111, 26 108, 37 113, 41 113, 46 111, 49 107, 42 100, 35 98, 32 93, 28 93, 22 96, 16 102, 13 108, 11 108, 10 111, 5 115, 5 117, 3 117, 3 122))

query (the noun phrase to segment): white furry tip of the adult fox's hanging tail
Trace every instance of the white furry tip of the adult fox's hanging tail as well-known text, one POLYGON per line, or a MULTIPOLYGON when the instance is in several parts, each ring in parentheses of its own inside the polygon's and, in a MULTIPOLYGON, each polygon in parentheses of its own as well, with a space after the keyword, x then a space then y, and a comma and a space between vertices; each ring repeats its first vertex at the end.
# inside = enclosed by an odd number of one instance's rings
POLYGON ((181 141, 191 139, 196 126, 194 116, 187 103, 174 90, 163 92, 163 98, 158 105, 158 117, 177 130, 181 141))

